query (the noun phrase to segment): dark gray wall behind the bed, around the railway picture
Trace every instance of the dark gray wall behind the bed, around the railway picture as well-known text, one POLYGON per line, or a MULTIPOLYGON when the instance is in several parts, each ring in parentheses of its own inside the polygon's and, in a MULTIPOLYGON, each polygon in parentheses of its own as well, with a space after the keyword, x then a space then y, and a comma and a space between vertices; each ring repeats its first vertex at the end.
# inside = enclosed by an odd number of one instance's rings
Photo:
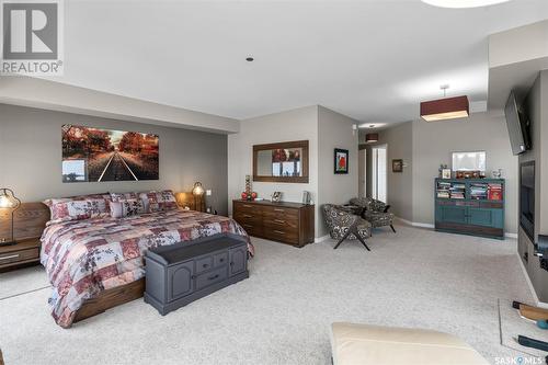
POLYGON ((24 202, 103 192, 181 192, 201 181, 213 190, 207 204, 227 214, 226 135, 0 104, 0 185, 12 187, 24 202), (62 183, 64 124, 159 135, 160 180, 62 183))

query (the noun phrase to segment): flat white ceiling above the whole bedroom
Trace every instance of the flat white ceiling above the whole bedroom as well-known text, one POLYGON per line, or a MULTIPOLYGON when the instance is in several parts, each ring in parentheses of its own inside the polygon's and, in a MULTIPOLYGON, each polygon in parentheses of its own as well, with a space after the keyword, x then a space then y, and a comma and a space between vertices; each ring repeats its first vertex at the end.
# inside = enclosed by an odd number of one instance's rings
POLYGON ((419 102, 484 102, 488 35, 548 18, 546 0, 477 9, 400 1, 65 2, 53 80, 235 118, 321 104, 364 123, 419 102), (253 62, 246 57, 252 55, 253 62))

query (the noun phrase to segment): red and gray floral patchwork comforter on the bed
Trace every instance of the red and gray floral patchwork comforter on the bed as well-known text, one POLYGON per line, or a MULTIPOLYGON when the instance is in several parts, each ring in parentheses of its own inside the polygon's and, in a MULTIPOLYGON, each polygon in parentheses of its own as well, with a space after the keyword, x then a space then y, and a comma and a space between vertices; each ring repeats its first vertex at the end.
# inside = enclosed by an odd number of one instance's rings
POLYGON ((87 299, 144 277, 149 248, 225 232, 246 237, 253 253, 248 235, 235 220, 194 210, 50 224, 42 236, 41 262, 54 287, 52 315, 68 328, 87 299))

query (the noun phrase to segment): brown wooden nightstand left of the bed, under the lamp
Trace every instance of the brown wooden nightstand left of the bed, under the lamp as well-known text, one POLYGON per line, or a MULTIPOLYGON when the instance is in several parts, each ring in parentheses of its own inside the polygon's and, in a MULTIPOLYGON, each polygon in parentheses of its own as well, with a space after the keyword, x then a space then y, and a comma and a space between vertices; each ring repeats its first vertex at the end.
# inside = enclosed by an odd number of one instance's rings
POLYGON ((39 262, 39 238, 18 241, 12 246, 0 247, 0 272, 39 262))

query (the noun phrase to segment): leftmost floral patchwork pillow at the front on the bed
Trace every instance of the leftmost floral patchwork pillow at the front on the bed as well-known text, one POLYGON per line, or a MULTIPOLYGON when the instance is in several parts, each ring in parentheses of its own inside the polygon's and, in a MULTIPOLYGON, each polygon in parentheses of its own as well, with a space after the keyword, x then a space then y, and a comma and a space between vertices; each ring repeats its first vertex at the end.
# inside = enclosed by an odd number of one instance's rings
POLYGON ((50 223, 81 220, 110 215, 109 194, 91 194, 44 201, 52 213, 50 223))

